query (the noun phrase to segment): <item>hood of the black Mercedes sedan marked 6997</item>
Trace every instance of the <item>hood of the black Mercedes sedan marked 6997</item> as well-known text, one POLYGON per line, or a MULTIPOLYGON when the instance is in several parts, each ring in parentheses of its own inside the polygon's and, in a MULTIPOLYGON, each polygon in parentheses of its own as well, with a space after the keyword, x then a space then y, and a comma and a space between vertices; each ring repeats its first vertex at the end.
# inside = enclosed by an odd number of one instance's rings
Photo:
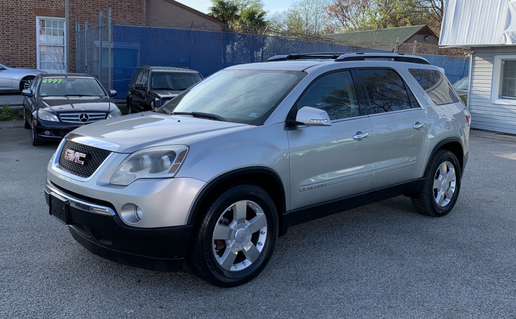
POLYGON ((115 108, 107 96, 40 96, 36 103, 39 109, 61 112, 109 112, 115 108))

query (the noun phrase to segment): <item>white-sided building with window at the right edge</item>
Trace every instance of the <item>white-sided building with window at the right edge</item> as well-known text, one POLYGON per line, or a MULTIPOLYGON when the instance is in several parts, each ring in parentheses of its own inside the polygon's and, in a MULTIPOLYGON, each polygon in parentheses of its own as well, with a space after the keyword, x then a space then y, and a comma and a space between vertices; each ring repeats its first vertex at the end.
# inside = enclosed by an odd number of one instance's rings
POLYGON ((472 127, 516 134, 516 0, 448 0, 439 45, 468 48, 472 127))

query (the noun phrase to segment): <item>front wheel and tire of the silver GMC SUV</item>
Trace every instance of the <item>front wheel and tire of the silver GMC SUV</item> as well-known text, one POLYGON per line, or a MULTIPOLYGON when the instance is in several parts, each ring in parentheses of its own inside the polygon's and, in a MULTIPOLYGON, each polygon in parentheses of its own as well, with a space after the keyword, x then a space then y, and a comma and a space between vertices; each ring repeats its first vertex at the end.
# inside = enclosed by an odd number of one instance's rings
POLYGON ((216 286, 235 287, 254 279, 269 262, 278 238, 278 212, 263 189, 243 184, 218 196, 195 231, 188 256, 192 270, 216 286), (216 230, 230 239, 217 239, 216 230))

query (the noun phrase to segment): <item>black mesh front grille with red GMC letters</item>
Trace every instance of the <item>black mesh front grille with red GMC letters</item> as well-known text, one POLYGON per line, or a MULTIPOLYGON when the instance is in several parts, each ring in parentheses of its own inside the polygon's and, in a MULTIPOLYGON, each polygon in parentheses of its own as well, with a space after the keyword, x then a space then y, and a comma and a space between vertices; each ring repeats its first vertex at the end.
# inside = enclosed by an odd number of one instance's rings
POLYGON ((61 166, 61 170, 65 172, 87 178, 99 168, 100 164, 104 162, 109 154, 111 154, 111 152, 108 150, 67 140, 61 149, 61 154, 59 155, 59 165, 61 166), (79 158, 80 160, 84 160, 84 165, 73 160, 66 159, 65 155, 67 153, 67 149, 86 154, 85 158, 79 158))

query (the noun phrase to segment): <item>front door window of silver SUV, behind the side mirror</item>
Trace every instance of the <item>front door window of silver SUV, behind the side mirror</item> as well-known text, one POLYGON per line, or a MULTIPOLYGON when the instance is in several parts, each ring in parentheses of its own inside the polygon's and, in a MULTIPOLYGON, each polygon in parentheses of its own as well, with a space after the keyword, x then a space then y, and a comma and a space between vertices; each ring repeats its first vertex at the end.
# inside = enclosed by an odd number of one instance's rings
POLYGON ((360 115, 357 92, 349 71, 330 73, 315 79, 297 105, 298 109, 310 106, 325 110, 330 120, 360 115))

